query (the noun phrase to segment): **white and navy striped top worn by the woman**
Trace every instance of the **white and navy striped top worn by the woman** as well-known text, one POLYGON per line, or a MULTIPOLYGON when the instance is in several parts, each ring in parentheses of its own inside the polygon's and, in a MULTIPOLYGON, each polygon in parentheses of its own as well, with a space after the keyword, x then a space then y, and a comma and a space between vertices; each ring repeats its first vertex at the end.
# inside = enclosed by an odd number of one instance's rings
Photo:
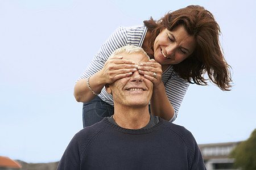
MULTIPOLYGON (((144 25, 134 27, 118 27, 109 37, 109 39, 101 46, 96 56, 94 56, 93 60, 90 62, 88 68, 78 80, 86 79, 90 75, 94 75, 100 71, 114 50, 126 45, 135 45, 141 47, 146 33, 147 28, 144 25)), ((180 78, 180 76, 174 72, 172 65, 170 65, 162 74, 162 81, 166 88, 167 97, 171 102, 172 107, 174 107, 175 114, 170 120, 172 122, 177 117, 180 104, 185 96, 189 83, 180 78)), ((102 88, 101 94, 98 96, 106 103, 114 105, 113 96, 108 94, 105 88, 102 88)))

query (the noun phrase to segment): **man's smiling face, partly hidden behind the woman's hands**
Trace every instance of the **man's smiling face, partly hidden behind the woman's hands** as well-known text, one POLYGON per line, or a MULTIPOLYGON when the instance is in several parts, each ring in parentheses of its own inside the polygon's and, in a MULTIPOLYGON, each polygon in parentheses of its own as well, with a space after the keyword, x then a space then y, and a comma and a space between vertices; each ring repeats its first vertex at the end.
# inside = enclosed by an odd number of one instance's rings
MULTIPOLYGON (((120 54, 123 59, 130 59, 137 65, 141 62, 148 62, 148 58, 141 53, 120 54)), ((129 107, 144 107, 148 105, 153 90, 153 83, 144 78, 143 75, 135 71, 132 75, 116 80, 106 87, 109 94, 112 93, 114 105, 123 105, 129 107)))

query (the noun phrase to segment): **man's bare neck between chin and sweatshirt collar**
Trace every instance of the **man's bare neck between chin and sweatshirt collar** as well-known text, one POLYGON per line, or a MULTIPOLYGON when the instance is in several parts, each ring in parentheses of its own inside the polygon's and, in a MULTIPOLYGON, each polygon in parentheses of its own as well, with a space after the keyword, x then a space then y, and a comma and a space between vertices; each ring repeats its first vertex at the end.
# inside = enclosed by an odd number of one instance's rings
POLYGON ((150 114, 148 112, 148 107, 115 107, 113 118, 122 128, 141 129, 150 121, 150 114))

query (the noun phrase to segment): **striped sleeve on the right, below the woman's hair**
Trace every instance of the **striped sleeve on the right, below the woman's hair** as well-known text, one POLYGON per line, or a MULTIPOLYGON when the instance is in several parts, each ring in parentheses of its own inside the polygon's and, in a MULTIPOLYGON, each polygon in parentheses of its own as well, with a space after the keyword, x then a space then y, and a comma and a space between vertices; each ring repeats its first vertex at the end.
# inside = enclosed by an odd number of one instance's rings
POLYGON ((177 118, 177 113, 179 112, 180 105, 188 90, 189 82, 182 79, 173 70, 170 71, 171 75, 169 76, 167 82, 164 84, 164 87, 166 88, 167 97, 172 104, 172 107, 174 107, 174 116, 170 120, 170 122, 173 122, 177 118))

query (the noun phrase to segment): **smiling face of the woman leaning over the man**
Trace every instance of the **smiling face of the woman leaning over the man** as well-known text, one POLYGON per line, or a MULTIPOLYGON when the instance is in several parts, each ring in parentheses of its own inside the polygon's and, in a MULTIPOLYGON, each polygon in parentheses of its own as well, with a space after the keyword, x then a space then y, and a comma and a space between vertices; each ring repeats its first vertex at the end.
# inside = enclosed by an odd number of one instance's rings
POLYGON ((188 35, 183 25, 172 31, 163 29, 154 42, 155 61, 161 65, 174 65, 190 56, 196 48, 193 36, 188 35))

